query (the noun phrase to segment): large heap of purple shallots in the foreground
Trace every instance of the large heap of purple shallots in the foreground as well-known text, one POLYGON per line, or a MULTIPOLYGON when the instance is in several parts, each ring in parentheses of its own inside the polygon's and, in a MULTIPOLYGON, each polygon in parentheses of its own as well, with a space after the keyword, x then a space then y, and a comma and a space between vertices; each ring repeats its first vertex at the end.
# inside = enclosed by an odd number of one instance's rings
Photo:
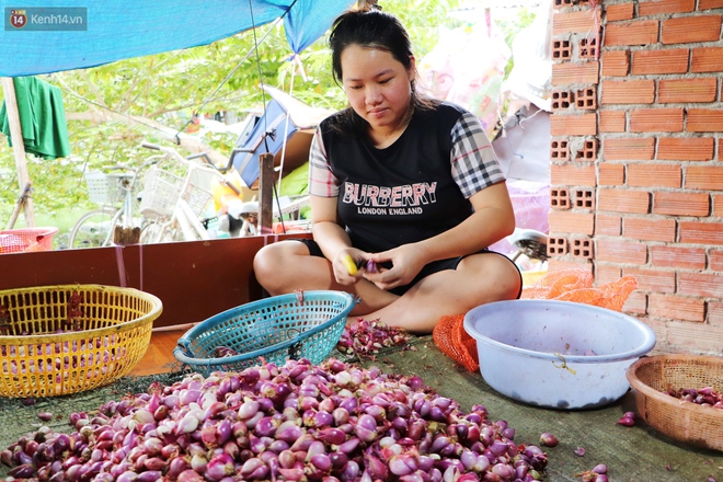
MULTIPOLYGON (((42 420, 51 414, 44 413, 42 420)), ((190 375, 2 450, 38 481, 532 481, 547 455, 482 405, 337 359, 190 375)))

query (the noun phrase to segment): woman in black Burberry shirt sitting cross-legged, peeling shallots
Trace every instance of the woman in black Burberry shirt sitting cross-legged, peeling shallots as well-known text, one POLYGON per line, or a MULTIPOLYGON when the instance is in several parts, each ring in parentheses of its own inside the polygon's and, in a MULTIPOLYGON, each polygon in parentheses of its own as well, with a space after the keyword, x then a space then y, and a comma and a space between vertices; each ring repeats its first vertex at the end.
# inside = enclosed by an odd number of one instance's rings
POLYGON ((347 11, 330 45, 349 106, 312 141, 313 240, 264 246, 259 283, 271 295, 344 290, 359 299, 351 319, 418 334, 444 315, 518 298, 519 269, 487 250, 515 217, 480 120, 418 91, 410 38, 393 15, 347 11))

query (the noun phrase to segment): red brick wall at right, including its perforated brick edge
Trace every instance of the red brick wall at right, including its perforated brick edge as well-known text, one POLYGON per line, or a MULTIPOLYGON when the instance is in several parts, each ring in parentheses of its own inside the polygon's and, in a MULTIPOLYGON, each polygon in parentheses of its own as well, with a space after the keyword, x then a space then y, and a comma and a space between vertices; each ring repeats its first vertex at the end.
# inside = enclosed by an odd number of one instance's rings
POLYGON ((656 352, 723 354, 723 0, 552 0, 550 271, 631 275, 656 352))

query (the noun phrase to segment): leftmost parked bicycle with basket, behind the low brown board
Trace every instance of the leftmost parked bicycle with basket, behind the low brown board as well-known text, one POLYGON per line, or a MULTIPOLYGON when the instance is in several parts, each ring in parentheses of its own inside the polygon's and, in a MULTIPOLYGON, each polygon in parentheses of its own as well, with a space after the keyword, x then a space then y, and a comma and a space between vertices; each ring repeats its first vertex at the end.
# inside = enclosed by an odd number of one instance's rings
POLYGON ((111 170, 118 173, 89 171, 85 173, 88 197, 101 207, 83 214, 70 230, 69 249, 103 248, 113 244, 118 228, 127 230, 140 227, 142 219, 134 216, 137 200, 134 193, 139 172, 154 163, 145 162, 138 168, 117 164, 111 170), (119 204, 119 206, 118 206, 119 204))

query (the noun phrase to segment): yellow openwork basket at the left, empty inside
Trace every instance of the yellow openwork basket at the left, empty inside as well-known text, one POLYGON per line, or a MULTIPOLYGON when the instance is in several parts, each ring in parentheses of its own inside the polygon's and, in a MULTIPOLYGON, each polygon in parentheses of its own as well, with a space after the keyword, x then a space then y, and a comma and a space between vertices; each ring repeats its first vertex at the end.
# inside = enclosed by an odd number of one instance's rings
POLYGON ((134 288, 0 290, 0 397, 55 397, 127 375, 146 354, 161 300, 134 288))

